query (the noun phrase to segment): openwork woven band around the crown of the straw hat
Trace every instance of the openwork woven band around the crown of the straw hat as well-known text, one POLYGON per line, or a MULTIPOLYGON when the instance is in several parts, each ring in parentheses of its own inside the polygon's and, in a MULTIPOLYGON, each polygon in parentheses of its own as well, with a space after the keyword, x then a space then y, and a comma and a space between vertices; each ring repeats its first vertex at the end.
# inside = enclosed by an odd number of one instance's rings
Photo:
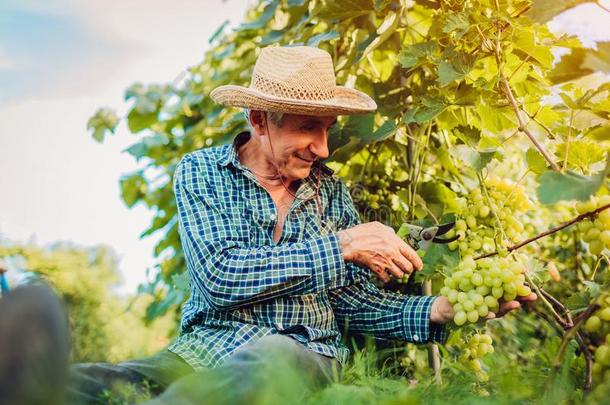
POLYGON ((254 75, 250 88, 274 97, 292 100, 325 101, 332 100, 335 97, 335 86, 307 87, 307 83, 304 83, 304 85, 300 84, 299 86, 289 87, 286 83, 276 82, 259 75, 254 75))

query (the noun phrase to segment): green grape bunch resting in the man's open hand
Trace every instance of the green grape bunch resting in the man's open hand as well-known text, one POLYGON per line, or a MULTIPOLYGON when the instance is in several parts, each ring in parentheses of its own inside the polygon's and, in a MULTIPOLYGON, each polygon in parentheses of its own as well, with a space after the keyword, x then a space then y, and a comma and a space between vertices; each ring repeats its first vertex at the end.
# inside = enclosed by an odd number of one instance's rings
POLYGON ((525 276, 519 263, 509 257, 485 258, 478 261, 470 256, 460 262, 445 278, 441 295, 453 305, 456 325, 475 323, 490 311, 499 308, 499 300, 514 300, 532 291, 524 284, 525 276))

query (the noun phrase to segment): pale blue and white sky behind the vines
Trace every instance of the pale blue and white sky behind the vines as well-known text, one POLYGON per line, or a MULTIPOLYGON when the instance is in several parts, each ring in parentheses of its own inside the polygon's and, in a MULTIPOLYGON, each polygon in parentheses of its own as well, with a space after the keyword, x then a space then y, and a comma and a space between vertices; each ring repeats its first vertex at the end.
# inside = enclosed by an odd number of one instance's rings
MULTIPOLYGON (((139 239, 152 212, 120 198, 119 178, 138 167, 122 151, 136 138, 122 124, 98 144, 87 120, 102 106, 122 115, 134 82, 172 82, 254 2, 0 0, 0 239, 109 245, 119 291, 135 291, 158 240, 139 239)), ((588 45, 610 40, 610 14, 592 4, 550 26, 588 45)))

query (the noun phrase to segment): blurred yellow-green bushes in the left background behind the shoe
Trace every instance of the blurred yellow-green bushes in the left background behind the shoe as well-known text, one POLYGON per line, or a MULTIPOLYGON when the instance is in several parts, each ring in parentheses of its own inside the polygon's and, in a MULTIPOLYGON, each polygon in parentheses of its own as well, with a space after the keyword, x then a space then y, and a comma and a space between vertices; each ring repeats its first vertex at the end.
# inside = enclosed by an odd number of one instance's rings
POLYGON ((150 355, 167 345, 175 331, 170 316, 144 324, 151 297, 119 297, 111 292, 118 282, 118 259, 107 247, 4 243, 0 260, 19 264, 9 268, 11 272, 20 270, 46 280, 63 299, 70 317, 73 362, 118 362, 150 355))

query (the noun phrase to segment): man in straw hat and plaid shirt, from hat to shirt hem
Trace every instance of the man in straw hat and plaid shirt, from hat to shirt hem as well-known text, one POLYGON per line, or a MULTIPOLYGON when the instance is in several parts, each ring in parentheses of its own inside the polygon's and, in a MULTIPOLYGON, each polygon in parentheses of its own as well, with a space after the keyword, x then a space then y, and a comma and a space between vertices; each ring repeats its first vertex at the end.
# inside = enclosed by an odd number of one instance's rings
POLYGON ((370 280, 370 271, 387 281, 421 269, 420 258, 390 227, 360 224, 345 185, 321 162, 336 116, 373 111, 374 101, 336 86, 330 55, 309 47, 265 48, 249 88, 211 95, 248 108, 252 131, 190 153, 176 169, 192 294, 170 350, 201 369, 272 337, 343 364, 346 325, 442 340, 451 306, 380 291, 370 280))

